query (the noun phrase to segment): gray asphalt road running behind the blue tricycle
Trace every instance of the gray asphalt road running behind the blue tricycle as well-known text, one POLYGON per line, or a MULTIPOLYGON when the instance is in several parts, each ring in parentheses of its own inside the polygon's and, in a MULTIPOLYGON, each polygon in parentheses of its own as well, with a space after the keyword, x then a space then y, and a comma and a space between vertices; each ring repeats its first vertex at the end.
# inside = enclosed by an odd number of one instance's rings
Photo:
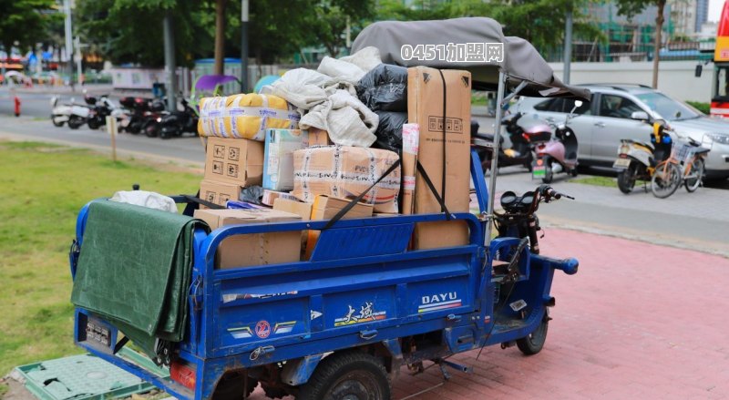
MULTIPOLYGON (((491 118, 482 118, 490 127, 491 118)), ((0 117, 0 138, 42 140, 109 152, 110 137, 103 130, 82 127, 77 130, 55 128, 43 119, 0 117)), ((122 157, 161 160, 201 169, 205 155, 199 138, 146 138, 120 134, 118 154, 122 157)), ((533 190, 539 182, 531 180, 526 169, 501 169, 497 192, 533 190)), ((553 186, 570 193, 576 200, 545 204, 539 217, 545 226, 611 234, 633 240, 663 243, 687 249, 729 256, 729 191, 702 188, 689 194, 678 190, 665 200, 655 199, 637 188, 623 195, 617 188, 572 183, 562 174, 553 186)), ((549 234, 549 231, 547 231, 549 234)))

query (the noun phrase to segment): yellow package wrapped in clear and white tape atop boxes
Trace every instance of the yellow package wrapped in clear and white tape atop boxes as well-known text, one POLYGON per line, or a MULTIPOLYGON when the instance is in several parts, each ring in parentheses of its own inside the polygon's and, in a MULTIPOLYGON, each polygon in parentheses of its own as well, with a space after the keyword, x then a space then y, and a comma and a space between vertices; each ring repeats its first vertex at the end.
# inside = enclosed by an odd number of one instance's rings
POLYGON ((264 141, 268 128, 299 128, 301 116, 282 97, 233 95, 200 99, 200 136, 264 141))

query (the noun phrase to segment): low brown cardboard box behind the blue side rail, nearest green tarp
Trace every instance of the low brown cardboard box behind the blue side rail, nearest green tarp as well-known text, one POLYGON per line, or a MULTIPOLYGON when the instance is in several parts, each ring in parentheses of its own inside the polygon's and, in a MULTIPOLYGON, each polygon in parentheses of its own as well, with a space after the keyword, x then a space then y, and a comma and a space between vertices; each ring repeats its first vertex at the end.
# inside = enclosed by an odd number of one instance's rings
MULTIPOLYGON (((301 217, 280 210, 195 210, 195 218, 205 221, 210 229, 221 226, 262 222, 301 221, 301 217)), ((231 236, 218 247, 216 267, 230 269, 282 262, 298 262, 301 233, 285 231, 231 236)))

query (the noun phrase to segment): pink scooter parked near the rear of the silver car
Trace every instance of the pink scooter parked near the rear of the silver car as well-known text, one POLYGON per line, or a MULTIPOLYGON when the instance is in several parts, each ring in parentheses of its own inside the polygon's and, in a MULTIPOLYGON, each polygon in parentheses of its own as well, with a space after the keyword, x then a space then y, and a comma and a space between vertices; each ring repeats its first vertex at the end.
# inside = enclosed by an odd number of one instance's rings
POLYGON ((565 116, 564 121, 554 125, 554 136, 546 143, 539 143, 535 146, 534 161, 532 162, 532 179, 541 179, 544 183, 550 183, 554 175, 566 172, 573 177, 577 176, 577 136, 572 129, 567 127, 571 118, 577 115, 574 113, 582 106, 582 101, 576 100, 575 107, 570 114, 565 116))

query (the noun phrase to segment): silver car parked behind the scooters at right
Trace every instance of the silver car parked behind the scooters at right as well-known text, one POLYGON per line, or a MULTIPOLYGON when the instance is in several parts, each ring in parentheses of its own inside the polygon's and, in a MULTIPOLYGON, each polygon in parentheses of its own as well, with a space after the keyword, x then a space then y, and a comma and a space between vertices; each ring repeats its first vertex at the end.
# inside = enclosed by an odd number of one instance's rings
MULTIPOLYGON (((569 127, 580 143, 581 165, 611 165, 621 138, 648 141, 653 119, 661 118, 681 135, 704 141, 711 152, 706 159, 707 179, 729 178, 729 121, 708 118, 700 111, 651 87, 639 85, 584 85, 592 93, 590 103, 577 108, 580 117, 569 127)), ((521 97, 511 108, 529 117, 550 122, 564 120, 574 107, 570 98, 521 97)))

